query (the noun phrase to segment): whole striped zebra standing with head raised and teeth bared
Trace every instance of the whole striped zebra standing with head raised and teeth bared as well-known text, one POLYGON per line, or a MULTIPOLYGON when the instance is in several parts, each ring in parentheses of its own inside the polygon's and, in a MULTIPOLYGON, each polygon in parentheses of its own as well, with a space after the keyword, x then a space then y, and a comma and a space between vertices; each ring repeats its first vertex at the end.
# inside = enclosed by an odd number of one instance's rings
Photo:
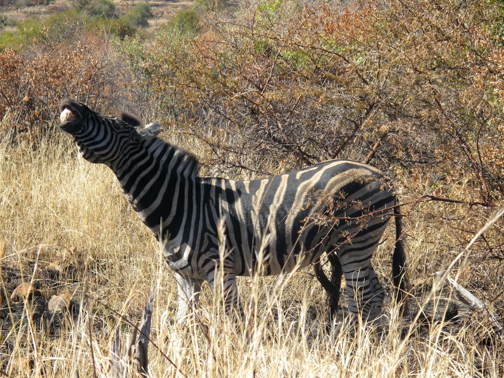
POLYGON ((177 282, 177 323, 193 312, 204 281, 215 287, 218 272, 226 311, 244 321, 236 276, 279 275, 310 264, 333 296, 331 312, 342 271, 351 318, 373 321, 384 289, 371 258, 391 217, 398 303, 406 293, 399 206, 380 170, 335 159, 257 180, 202 177, 195 155, 158 138, 160 123, 142 126, 132 115, 99 114, 71 99, 61 101, 59 112, 59 129, 73 136, 82 157, 114 172, 161 242, 177 282), (331 281, 320 266, 323 256, 332 265, 331 281))

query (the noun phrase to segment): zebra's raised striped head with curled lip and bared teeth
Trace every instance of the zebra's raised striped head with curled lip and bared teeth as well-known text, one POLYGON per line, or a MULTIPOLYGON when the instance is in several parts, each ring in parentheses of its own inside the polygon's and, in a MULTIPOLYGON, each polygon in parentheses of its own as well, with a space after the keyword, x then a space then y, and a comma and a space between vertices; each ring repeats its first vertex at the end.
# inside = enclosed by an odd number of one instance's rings
POLYGON ((59 104, 59 128, 74 137, 81 155, 91 163, 112 165, 125 151, 135 149, 161 132, 160 123, 141 126, 129 114, 119 118, 98 114, 71 99, 59 104))

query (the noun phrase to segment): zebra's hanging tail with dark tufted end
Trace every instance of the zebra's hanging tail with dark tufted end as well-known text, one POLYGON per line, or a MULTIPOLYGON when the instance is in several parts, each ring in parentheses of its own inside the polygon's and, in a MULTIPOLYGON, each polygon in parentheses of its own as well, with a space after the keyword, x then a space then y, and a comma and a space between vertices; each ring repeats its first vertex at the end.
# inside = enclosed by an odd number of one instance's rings
POLYGON ((408 280, 406 278, 406 254, 404 253, 404 243, 402 240, 402 215, 399 211, 399 206, 394 207, 394 218, 396 220, 396 243, 392 256, 392 276, 394 286, 397 289, 396 302, 402 303, 401 313, 404 314, 406 301, 403 301, 403 299, 407 294, 408 280))

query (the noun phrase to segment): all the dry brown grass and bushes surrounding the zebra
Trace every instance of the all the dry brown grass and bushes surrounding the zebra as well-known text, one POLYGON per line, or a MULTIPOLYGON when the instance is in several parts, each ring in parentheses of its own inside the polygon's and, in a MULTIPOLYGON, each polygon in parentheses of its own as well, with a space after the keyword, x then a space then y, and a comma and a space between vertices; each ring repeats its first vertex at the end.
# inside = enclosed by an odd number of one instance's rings
MULTIPOLYGON (((504 224, 485 226, 504 197, 502 4, 205 10, 193 34, 121 40, 74 15, 41 21, 21 47, 0 45, 0 375, 109 376, 115 330, 131 332, 153 285, 153 376, 502 375, 504 224), (306 271, 239 282, 251 340, 208 287, 195 326, 181 330, 156 240, 106 168, 56 132, 64 97, 162 121, 210 175, 256 178, 329 158, 385 170, 403 202, 410 313, 390 304, 378 328, 328 334, 306 271), (484 311, 433 283, 447 269, 484 311), (23 283, 40 295, 13 297, 23 283), (66 307, 54 310, 53 295, 66 307)), ((390 277, 392 240, 376 256, 380 277, 390 277)))

